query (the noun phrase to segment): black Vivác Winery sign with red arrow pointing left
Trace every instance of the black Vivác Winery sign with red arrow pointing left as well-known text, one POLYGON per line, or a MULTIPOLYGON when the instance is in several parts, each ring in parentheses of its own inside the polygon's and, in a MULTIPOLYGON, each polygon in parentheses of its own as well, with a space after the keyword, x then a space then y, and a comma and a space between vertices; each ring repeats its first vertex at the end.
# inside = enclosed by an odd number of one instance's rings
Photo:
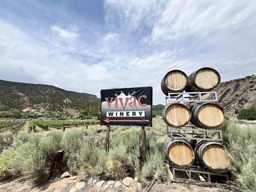
POLYGON ((104 89, 101 125, 152 127, 152 87, 104 89))

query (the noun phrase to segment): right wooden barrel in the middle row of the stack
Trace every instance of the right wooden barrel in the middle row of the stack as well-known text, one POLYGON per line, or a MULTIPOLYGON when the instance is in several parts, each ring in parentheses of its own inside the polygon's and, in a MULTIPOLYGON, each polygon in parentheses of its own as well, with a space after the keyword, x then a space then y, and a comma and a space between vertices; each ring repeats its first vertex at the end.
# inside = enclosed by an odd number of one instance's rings
POLYGON ((223 108, 216 103, 195 104, 191 108, 190 122, 197 127, 215 128, 225 119, 223 108))

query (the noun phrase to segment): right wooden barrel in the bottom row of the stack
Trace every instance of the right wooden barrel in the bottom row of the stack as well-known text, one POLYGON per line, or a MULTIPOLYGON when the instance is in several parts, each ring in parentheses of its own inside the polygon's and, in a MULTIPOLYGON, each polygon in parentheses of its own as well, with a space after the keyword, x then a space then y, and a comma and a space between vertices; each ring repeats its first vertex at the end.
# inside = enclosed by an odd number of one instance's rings
POLYGON ((227 172, 230 159, 225 153, 224 145, 218 142, 199 141, 195 145, 195 156, 205 167, 217 173, 227 172))

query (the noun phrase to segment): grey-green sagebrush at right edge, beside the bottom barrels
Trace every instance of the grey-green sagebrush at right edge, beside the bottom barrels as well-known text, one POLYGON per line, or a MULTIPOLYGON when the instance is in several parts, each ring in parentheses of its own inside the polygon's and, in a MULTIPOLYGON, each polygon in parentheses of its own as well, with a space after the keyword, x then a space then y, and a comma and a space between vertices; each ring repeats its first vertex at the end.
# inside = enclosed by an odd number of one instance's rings
POLYGON ((256 189, 256 127, 241 129, 230 123, 224 132, 228 155, 232 161, 230 170, 235 177, 232 189, 252 192, 256 189))

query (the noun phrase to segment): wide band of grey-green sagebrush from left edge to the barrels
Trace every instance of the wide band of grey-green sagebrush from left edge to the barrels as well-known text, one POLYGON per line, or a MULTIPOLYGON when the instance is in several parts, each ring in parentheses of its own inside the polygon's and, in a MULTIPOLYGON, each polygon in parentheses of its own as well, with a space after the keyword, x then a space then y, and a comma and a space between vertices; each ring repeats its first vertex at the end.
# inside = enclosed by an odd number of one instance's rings
POLYGON ((58 150, 64 150, 62 171, 78 174, 81 180, 96 176, 118 180, 135 175, 144 179, 166 179, 161 133, 147 130, 147 161, 141 165, 140 129, 117 127, 111 131, 109 153, 105 152, 105 130, 100 126, 85 131, 55 130, 46 136, 20 131, 0 154, 0 180, 11 176, 48 180, 53 153, 58 150))

